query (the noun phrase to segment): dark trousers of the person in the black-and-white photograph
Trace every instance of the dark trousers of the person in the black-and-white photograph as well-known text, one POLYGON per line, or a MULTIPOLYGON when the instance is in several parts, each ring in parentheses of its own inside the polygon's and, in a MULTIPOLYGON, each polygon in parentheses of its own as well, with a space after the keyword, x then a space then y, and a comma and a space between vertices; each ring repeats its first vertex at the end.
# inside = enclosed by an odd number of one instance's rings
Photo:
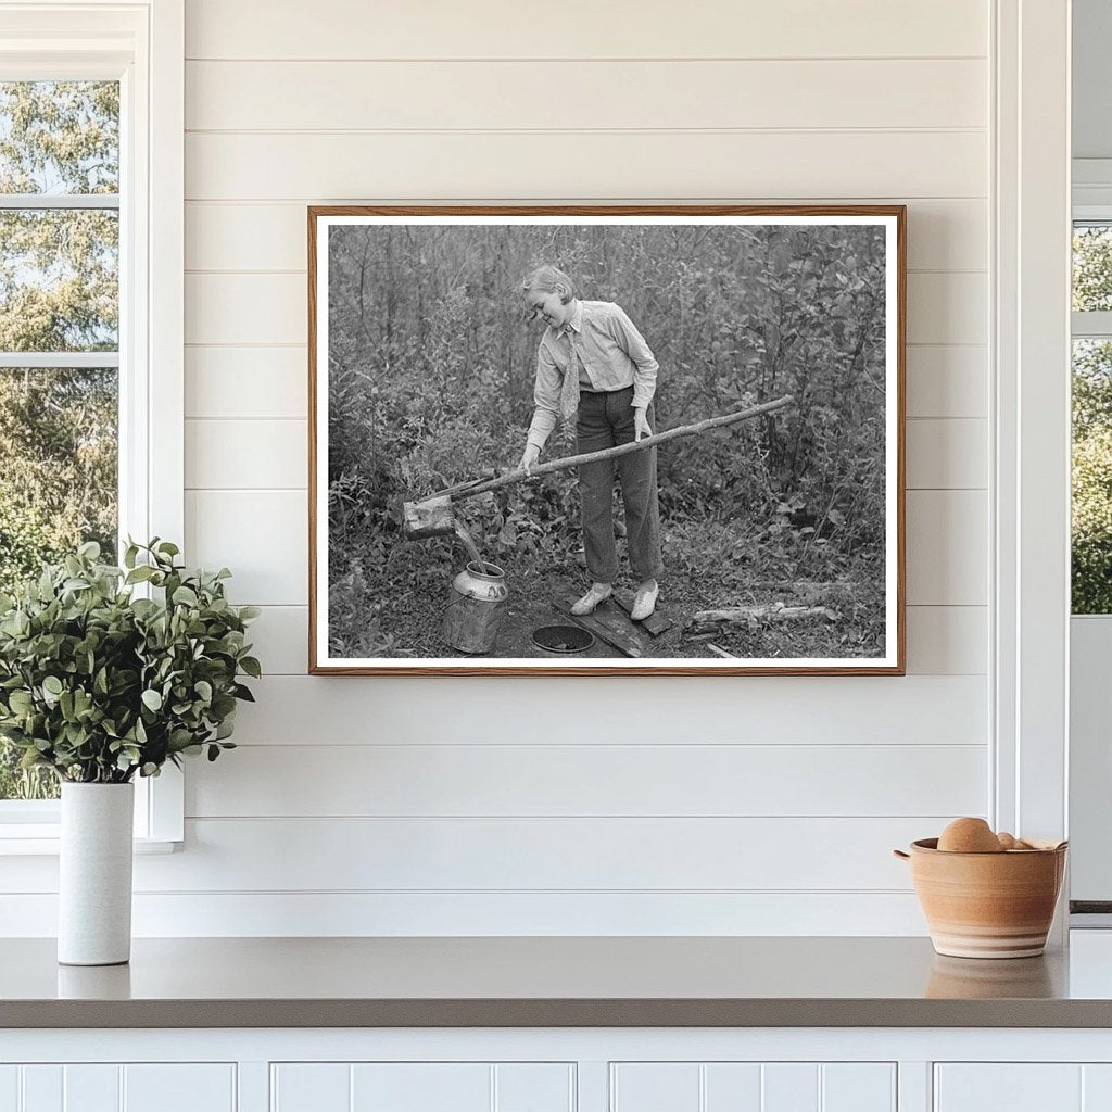
MULTIPOLYGON (((646 416, 649 428, 655 431, 652 405, 646 416)), ((633 387, 605 394, 583 390, 579 394, 576 433, 579 451, 598 451, 632 444, 633 387)), ((579 467, 587 573, 595 583, 613 583, 618 575, 614 545, 615 465, 626 512, 629 566, 638 582, 655 579, 664 572, 661 563, 661 510, 656 497, 656 448, 631 451, 617 459, 603 459, 579 467)))

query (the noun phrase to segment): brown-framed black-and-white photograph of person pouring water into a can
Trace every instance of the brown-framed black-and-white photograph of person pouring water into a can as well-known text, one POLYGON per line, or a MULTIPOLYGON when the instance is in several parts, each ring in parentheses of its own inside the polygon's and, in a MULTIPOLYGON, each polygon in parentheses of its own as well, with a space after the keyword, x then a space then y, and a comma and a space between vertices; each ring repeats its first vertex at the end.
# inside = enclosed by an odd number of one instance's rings
POLYGON ((308 216, 311 672, 903 674, 902 206, 308 216))

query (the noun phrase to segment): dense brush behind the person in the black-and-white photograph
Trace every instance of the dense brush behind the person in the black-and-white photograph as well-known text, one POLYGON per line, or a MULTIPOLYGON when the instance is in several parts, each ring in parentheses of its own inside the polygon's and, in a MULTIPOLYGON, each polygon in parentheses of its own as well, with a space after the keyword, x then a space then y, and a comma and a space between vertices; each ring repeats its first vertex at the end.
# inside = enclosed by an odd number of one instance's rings
MULTIPOLYGON (((795 399, 658 453, 662 607, 677 622, 662 653, 708 655, 684 633, 696 609, 783 600, 841 619, 717 643, 883 654, 883 228, 346 226, 329 230, 328 257, 330 655, 446 655, 438 616, 459 553, 405 542, 399 503, 517 464, 544 328, 526 322, 520 282, 540 262, 641 329, 661 364, 659 430, 795 399)), ((572 450, 558 429, 543 458, 572 450)), ((519 589, 547 600, 583 580, 574 473, 464 508, 519 589)))

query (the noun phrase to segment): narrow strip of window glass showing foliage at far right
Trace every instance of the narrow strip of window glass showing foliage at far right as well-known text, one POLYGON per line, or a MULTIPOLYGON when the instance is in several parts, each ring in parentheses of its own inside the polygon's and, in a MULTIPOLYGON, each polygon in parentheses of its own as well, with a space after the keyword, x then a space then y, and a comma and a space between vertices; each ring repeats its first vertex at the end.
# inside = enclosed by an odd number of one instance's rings
POLYGON ((1112 614, 1112 214, 1073 229, 1072 610, 1112 614))

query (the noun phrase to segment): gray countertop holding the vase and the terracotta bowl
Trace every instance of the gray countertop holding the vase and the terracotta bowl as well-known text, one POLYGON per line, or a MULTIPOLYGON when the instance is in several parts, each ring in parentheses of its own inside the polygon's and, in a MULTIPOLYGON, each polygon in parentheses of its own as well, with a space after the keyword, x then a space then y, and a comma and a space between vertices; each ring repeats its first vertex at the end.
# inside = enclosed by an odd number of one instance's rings
POLYGON ((1086 943, 1079 977, 926 939, 139 939, 101 969, 18 939, 0 1026, 1112 1026, 1112 937, 1086 943))

